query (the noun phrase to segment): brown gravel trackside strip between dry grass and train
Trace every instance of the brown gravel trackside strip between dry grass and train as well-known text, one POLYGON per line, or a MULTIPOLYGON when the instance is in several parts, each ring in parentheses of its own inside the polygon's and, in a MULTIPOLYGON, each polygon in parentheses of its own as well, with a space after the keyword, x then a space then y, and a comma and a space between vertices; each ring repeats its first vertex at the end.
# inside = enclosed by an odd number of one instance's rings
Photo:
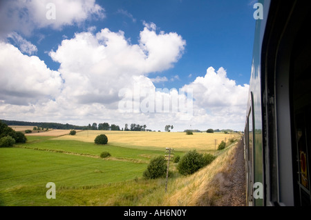
POLYGON ((214 177, 218 182, 218 199, 214 206, 245 206, 245 163, 243 141, 239 141, 231 166, 214 177))

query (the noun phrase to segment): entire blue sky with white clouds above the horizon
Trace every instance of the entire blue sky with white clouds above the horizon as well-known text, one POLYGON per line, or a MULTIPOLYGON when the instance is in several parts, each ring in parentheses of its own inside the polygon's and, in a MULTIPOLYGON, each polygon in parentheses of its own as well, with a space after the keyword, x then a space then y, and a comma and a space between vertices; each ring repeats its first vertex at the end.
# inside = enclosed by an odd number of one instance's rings
POLYGON ((0 1, 0 119, 243 130, 253 6, 0 1))

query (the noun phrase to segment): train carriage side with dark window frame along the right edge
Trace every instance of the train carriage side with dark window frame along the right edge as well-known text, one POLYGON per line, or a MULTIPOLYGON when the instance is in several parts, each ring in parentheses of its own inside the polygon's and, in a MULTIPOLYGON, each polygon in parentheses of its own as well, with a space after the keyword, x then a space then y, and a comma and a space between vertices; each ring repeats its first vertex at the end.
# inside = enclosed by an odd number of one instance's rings
POLYGON ((310 206, 311 3, 259 1, 245 122, 249 206, 310 206))

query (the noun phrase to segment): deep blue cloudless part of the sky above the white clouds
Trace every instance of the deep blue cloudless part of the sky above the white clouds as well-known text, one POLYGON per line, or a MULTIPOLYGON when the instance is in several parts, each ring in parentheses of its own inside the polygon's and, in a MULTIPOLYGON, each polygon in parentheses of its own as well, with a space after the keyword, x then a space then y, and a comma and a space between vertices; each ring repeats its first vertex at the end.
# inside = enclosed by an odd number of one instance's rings
MULTIPOLYGON (((104 19, 85 21, 79 27, 67 26, 61 31, 37 30, 33 41, 38 41, 42 32, 49 35, 37 44, 41 56, 44 57, 44 51, 57 48, 63 35, 73 37, 75 32, 84 31, 89 26, 95 26, 97 30, 122 30, 131 43, 138 43, 143 22, 153 22, 158 31, 176 32, 187 41, 180 61, 174 64, 174 68, 160 74, 169 76, 169 79, 177 74, 180 81, 164 83, 164 86, 179 88, 205 74, 209 66, 224 67, 228 77, 238 84, 249 83, 255 24, 254 9, 249 1, 125 0, 97 3, 105 9, 104 19)), ((50 68, 57 70, 59 63, 51 62, 47 55, 44 58, 50 68)), ((150 74, 153 75, 157 73, 150 74)))

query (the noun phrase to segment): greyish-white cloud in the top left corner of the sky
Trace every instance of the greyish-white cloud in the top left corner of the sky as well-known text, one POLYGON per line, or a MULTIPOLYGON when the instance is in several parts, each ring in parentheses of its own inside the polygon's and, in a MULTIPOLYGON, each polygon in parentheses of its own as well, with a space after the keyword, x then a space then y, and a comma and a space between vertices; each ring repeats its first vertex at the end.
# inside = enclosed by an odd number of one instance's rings
POLYGON ((104 8, 95 0, 30 0, 1 1, 0 38, 18 31, 29 36, 37 28, 61 30, 64 26, 80 25, 87 19, 103 19, 104 8), (50 6, 55 6, 50 8, 50 6), (52 11, 50 11, 52 10, 52 11), (55 19, 47 14, 55 12, 55 19))

